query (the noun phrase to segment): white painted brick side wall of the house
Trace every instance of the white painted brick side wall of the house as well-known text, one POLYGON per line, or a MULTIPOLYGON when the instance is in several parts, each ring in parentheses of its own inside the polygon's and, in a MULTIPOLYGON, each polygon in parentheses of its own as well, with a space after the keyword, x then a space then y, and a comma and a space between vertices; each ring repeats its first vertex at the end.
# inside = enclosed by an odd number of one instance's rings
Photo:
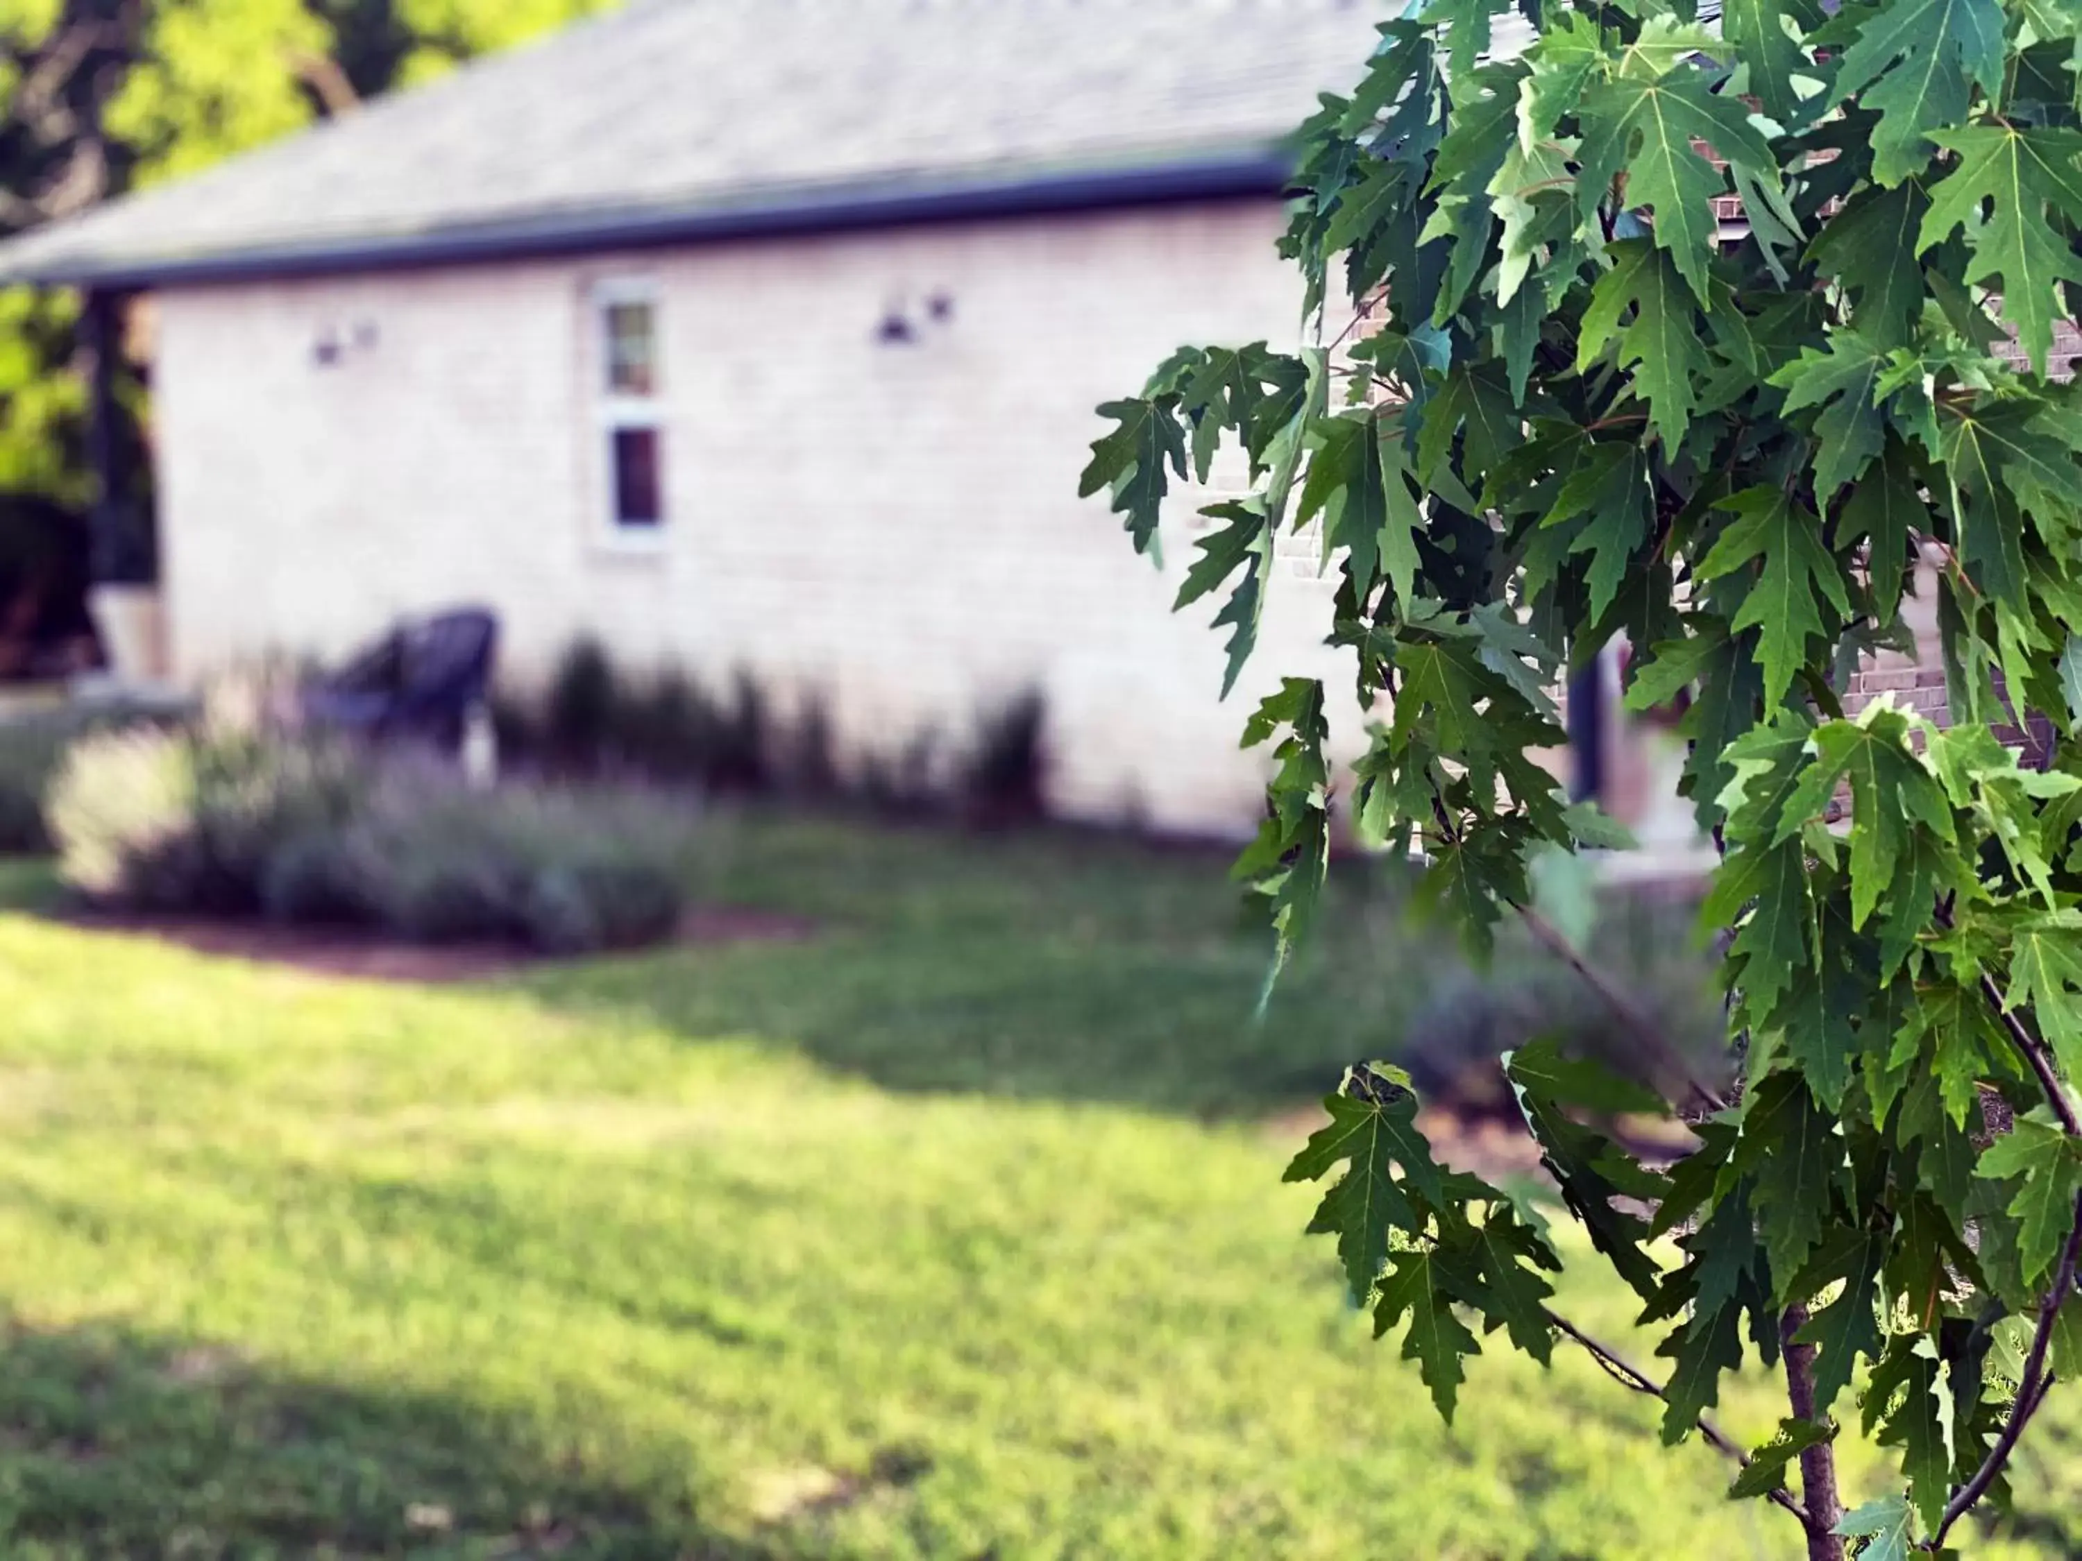
POLYGON ((1258 664, 1216 703, 1214 604, 1170 616, 1189 506, 1160 577, 1076 479, 1091 408, 1172 346, 1297 339, 1278 225, 1241 202, 169 291, 175 666, 337 654, 393 614, 487 602, 523 676, 591 629, 633 664, 822 687, 841 737, 883 747, 1035 683, 1064 810, 1247 828, 1249 701, 1280 672, 1349 699, 1328 589, 1280 564, 1258 664), (648 554, 604 539, 600 277, 648 277, 662 306, 670 531, 648 554), (916 341, 877 339, 889 308, 916 341))

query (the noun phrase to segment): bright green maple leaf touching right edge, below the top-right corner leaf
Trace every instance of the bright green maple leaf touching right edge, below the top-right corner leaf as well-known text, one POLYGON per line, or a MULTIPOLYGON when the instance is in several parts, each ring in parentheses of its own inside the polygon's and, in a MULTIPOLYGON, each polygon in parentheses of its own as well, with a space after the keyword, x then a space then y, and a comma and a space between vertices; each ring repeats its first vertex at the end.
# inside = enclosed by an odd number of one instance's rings
POLYGON ((1967 125, 1932 139, 1957 152, 1959 167, 1932 187, 1918 241, 1928 250, 1965 229, 1974 250, 1965 281, 2001 281, 2003 316, 2042 375, 2053 321, 2067 312, 2061 281, 2082 281, 2070 235, 2047 216, 2051 208, 2082 221, 2082 131, 1967 125))

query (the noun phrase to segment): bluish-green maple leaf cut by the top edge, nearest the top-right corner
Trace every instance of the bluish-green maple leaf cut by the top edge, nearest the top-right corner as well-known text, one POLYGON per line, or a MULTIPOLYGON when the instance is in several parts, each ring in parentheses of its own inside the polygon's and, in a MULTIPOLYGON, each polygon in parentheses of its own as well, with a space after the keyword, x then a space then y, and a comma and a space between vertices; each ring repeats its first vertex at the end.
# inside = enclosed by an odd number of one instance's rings
POLYGON ((1990 98, 2003 92, 1999 0, 1897 0, 1863 19, 1830 100, 1880 112, 1872 177, 1899 185, 1930 160, 1930 135, 1965 119, 1976 81, 1990 98))

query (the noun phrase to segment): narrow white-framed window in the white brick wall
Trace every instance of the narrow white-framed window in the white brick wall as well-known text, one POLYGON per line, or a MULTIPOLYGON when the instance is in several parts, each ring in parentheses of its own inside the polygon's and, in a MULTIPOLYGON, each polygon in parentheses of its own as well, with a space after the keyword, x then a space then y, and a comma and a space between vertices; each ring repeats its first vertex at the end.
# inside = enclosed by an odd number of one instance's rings
POLYGON ((606 533, 658 541, 668 514, 658 289, 643 279, 593 283, 589 316, 606 533))

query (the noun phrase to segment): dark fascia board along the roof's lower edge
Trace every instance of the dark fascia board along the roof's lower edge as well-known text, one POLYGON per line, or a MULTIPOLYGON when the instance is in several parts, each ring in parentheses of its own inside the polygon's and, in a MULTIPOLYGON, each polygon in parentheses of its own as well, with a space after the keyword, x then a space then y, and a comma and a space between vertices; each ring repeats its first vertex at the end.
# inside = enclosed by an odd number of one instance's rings
POLYGON ((1241 196, 1278 196, 1293 179, 1293 156, 1258 148, 1214 158, 1151 162, 1133 169, 972 177, 931 187, 789 191, 735 206, 564 210, 510 221, 433 227, 416 233, 314 239, 181 256, 56 256, 8 266, 0 281, 144 289, 277 277, 321 277, 416 266, 535 260, 604 250, 639 250, 722 239, 841 233, 852 229, 1035 216, 1049 212, 1153 206, 1241 196))

